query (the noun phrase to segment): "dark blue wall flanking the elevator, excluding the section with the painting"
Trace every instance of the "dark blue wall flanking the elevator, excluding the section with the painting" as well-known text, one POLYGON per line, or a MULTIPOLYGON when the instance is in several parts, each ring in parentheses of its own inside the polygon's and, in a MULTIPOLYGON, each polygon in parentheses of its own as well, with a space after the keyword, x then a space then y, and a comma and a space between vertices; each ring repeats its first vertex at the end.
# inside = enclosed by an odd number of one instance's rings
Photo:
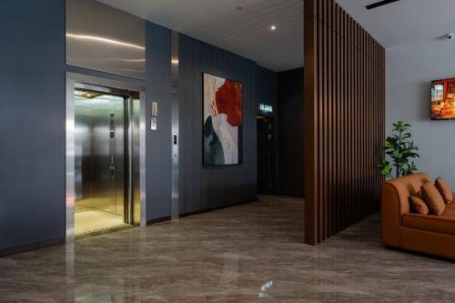
MULTIPOLYGON (((65 1, 2 1, 0 14, 2 250, 65 238, 66 71, 144 82, 66 66, 65 1)), ((158 130, 147 125, 147 219, 170 214, 169 36, 147 23, 147 113, 159 104, 158 130)))

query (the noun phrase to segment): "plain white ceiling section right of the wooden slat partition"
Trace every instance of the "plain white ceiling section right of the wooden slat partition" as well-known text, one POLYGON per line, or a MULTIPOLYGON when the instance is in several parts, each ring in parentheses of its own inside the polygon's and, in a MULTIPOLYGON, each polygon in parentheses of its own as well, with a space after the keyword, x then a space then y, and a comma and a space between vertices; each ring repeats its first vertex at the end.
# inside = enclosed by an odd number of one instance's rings
POLYGON ((455 0, 401 0, 372 10, 365 8, 378 1, 337 0, 386 48, 438 39, 455 32, 455 0))

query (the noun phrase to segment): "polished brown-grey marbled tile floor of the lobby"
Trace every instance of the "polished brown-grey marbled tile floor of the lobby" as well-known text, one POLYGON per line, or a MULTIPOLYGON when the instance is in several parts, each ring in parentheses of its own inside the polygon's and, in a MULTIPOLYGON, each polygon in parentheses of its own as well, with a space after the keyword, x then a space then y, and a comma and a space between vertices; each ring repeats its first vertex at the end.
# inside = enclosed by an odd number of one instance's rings
POLYGON ((455 263, 380 245, 379 216, 303 244, 303 201, 259 202, 0 258, 0 302, 455 302, 455 263))

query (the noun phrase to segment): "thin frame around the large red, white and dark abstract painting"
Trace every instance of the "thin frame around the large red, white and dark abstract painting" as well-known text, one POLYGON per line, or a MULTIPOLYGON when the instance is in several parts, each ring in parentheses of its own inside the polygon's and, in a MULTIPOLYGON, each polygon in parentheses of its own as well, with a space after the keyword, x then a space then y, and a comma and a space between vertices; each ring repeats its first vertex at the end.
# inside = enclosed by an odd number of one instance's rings
POLYGON ((243 164, 243 126, 244 126, 244 122, 245 122, 245 119, 244 119, 244 116, 245 116, 245 105, 244 105, 244 100, 245 100, 245 94, 244 94, 244 84, 242 81, 238 81, 238 80, 234 80, 232 78, 229 78, 227 76, 217 76, 217 75, 214 75, 212 73, 207 73, 207 72, 202 72, 202 75, 201 75, 201 79, 202 79, 202 127, 201 127, 201 134, 202 134, 202 142, 201 142, 201 146, 202 146, 202 153, 201 153, 201 159, 202 159, 202 166, 203 167, 239 167, 243 164), (205 119, 205 103, 206 103, 206 96, 205 96, 205 76, 213 76, 213 77, 217 77, 217 78, 221 78, 221 79, 224 79, 226 81, 231 81, 235 84, 238 84, 240 87, 241 87, 241 93, 240 93, 240 97, 241 97, 241 106, 240 106, 240 109, 241 109, 241 123, 240 125, 238 126, 238 161, 237 163, 227 163, 227 164, 211 164, 211 163, 206 163, 206 160, 205 160, 205 125, 206 125, 206 119, 205 119))

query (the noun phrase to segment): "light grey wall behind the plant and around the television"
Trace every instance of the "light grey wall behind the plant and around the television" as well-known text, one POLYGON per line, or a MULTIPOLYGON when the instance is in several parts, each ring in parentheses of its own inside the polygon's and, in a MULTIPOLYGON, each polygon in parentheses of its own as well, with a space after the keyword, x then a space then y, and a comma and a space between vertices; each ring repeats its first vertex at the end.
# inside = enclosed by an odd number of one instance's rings
POLYGON ((445 39, 399 45, 386 50, 386 136, 392 124, 411 125, 420 157, 419 170, 431 178, 444 177, 455 188, 453 152, 455 120, 430 119, 431 81, 455 76, 455 44, 445 39))

